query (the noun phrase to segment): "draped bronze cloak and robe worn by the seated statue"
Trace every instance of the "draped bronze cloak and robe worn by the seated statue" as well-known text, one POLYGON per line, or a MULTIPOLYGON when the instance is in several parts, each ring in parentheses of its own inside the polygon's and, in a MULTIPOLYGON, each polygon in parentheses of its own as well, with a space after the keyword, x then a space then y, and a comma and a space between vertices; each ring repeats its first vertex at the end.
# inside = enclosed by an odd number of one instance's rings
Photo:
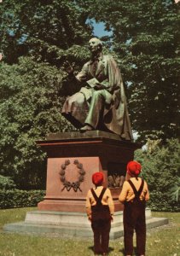
POLYGON ((76 79, 78 82, 82 84, 86 82, 86 84, 78 93, 67 97, 62 108, 62 114, 77 128, 90 123, 86 120, 93 119, 90 103, 95 89, 90 87, 87 82, 93 78, 102 84, 102 90, 101 88, 100 90, 104 98, 102 119, 94 129, 112 131, 125 140, 132 140, 125 89, 119 67, 111 55, 101 55, 96 61, 88 61, 84 64, 76 79))

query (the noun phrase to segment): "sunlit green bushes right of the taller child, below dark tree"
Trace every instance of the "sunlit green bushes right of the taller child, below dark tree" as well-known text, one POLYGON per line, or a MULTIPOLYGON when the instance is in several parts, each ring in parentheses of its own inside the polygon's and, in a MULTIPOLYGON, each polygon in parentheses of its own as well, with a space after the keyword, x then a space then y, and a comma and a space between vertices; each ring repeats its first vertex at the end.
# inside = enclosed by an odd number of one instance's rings
POLYGON ((154 211, 180 211, 180 198, 174 198, 172 191, 180 178, 180 144, 168 140, 165 146, 156 145, 152 150, 136 150, 135 159, 142 164, 142 177, 150 191, 149 207, 154 211))

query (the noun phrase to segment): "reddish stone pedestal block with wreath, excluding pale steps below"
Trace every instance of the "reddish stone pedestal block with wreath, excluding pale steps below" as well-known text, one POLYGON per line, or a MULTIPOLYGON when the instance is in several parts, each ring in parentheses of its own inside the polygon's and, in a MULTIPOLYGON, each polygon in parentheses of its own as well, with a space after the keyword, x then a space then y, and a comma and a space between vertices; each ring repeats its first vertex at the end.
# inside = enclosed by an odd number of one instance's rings
MULTIPOLYGON (((136 143, 120 141, 118 135, 104 131, 49 134, 37 143, 47 153, 46 195, 38 210, 57 212, 85 212, 92 174, 103 172, 105 186, 109 175, 125 176, 127 162, 138 148, 136 143)), ((120 188, 111 192, 115 212, 122 210, 120 188)))

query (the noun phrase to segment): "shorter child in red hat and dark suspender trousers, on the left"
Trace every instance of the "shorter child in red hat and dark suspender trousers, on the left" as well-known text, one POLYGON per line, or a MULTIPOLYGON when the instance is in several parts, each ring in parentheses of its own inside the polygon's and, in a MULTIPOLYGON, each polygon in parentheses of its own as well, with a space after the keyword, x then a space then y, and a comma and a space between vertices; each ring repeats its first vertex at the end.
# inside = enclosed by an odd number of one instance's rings
POLYGON ((111 220, 113 220, 113 198, 111 191, 102 186, 102 172, 92 175, 92 183, 95 188, 88 191, 86 197, 86 212, 91 221, 91 228, 94 233, 95 255, 107 255, 111 220))

